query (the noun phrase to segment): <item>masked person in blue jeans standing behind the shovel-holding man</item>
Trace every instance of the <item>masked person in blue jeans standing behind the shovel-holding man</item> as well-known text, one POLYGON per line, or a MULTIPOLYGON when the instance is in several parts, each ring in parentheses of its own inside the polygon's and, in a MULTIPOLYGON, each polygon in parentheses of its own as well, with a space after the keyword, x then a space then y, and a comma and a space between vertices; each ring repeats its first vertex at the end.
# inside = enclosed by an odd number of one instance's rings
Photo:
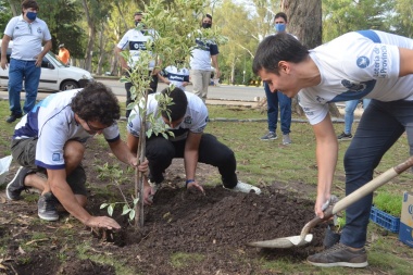
MULTIPOLYGON (((288 21, 287 14, 284 12, 278 12, 274 16, 274 28, 277 35, 279 33, 286 33, 288 21)), ((293 36, 295 37, 295 36, 293 36)), ((297 39, 297 37, 295 37, 297 39)), ((261 140, 273 140, 277 139, 277 122, 278 122, 278 104, 279 104, 279 115, 283 132, 283 145, 291 143, 290 133, 291 133, 291 99, 285 96, 280 91, 272 92, 268 85, 264 82, 264 90, 266 96, 267 110, 266 114, 268 117, 268 133, 261 137, 261 140)))

